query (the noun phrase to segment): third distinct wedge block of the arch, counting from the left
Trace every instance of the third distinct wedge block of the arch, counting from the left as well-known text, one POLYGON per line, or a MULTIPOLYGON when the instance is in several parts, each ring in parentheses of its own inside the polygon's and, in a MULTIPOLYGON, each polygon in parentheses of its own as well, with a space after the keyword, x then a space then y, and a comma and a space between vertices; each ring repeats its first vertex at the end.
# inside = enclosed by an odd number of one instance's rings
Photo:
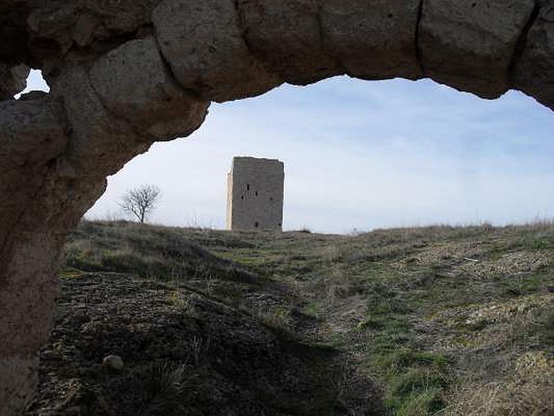
POLYGON ((316 0, 238 0, 250 50, 287 83, 307 85, 344 73, 323 49, 316 0))

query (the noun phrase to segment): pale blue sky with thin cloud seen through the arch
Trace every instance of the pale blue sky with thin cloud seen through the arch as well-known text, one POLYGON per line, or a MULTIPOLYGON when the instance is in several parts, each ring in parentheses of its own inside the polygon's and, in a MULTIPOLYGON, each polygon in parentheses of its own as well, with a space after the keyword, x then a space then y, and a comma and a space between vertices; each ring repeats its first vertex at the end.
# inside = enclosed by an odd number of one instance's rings
MULTIPOLYGON (((30 79, 40 89, 39 75, 30 79)), ((151 220, 223 228, 235 155, 285 162, 285 229, 522 223, 554 216, 554 113, 519 92, 485 101, 431 80, 337 77, 213 105, 195 134, 109 177, 88 218, 119 218, 137 184, 151 220)))

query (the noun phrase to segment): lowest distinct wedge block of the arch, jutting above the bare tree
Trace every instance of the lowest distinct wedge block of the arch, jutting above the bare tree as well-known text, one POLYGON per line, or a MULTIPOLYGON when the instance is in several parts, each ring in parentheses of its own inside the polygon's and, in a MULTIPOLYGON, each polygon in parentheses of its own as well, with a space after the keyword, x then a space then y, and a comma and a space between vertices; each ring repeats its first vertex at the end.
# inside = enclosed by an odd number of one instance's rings
POLYGON ((132 40, 100 58, 91 83, 110 112, 151 140, 190 135, 208 107, 175 82, 153 37, 132 40))

